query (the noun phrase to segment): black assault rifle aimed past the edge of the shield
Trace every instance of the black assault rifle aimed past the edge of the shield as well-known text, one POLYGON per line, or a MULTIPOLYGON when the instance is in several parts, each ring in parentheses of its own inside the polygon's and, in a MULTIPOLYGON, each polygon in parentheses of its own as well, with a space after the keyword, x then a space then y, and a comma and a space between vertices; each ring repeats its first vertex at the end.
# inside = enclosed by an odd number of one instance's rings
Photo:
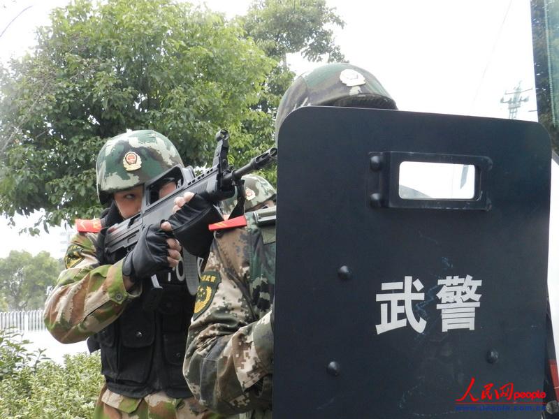
MULTIPOLYGON (((173 214, 175 198, 182 196, 187 191, 196 193, 208 202, 218 205, 219 201, 234 196, 236 190, 237 205, 231 213, 231 218, 242 215, 245 203, 245 189, 242 185, 241 177, 254 170, 259 170, 274 161, 277 156, 277 149, 272 147, 259 156, 254 157, 245 166, 235 169, 229 165, 227 160, 229 149, 228 132, 225 129, 218 131, 215 140, 217 140, 217 146, 212 167, 204 170, 200 175, 196 176, 194 168, 191 166, 182 168, 177 165, 144 184, 140 212, 121 223, 110 226, 107 230, 105 248, 109 255, 122 255, 133 249, 138 242, 142 230, 151 224, 157 223, 159 225, 162 220, 168 219, 173 214), (161 186, 169 182, 175 182, 177 189, 169 195, 159 198, 161 186)), ((194 294, 198 287, 196 257, 183 252, 183 263, 185 272, 190 272, 190 274, 186 275, 189 291, 194 294)), ((163 288, 159 285, 155 275, 152 276, 151 281, 152 290, 150 290, 150 297, 147 298, 146 305, 149 308, 154 308, 157 306, 157 302, 159 302, 163 288)))

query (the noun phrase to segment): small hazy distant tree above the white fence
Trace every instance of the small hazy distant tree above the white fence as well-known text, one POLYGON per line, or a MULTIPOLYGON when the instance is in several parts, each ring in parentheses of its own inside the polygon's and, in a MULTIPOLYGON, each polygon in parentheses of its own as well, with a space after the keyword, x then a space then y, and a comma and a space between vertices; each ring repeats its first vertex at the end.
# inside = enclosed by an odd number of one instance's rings
POLYGON ((7 258, 0 258, 0 300, 6 300, 10 310, 42 309, 59 272, 59 261, 46 251, 37 256, 10 251, 7 258))

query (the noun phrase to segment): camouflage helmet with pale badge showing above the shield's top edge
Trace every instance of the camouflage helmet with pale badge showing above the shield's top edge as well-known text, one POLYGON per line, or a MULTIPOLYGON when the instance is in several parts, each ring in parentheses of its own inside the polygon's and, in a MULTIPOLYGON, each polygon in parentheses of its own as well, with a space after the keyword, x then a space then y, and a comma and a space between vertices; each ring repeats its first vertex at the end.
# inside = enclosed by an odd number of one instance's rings
POLYGON ((275 133, 289 112, 308 105, 398 109, 374 75, 348 63, 326 64, 298 77, 279 102, 275 133))

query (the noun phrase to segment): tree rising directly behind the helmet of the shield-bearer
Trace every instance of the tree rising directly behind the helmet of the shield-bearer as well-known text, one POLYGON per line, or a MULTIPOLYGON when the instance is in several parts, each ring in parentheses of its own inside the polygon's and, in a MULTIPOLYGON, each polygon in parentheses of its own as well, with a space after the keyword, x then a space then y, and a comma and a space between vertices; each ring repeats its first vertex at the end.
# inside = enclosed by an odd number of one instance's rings
MULTIPOLYGON (((333 27, 343 28, 344 22, 333 8, 326 6, 326 0, 254 0, 247 15, 238 17, 238 22, 275 61, 262 84, 258 102, 242 122, 248 135, 247 149, 264 151, 274 145, 277 107, 295 75, 286 55, 300 53, 309 61, 344 61, 333 36, 333 27)), ((265 172, 268 180, 275 183, 275 168, 265 172)))

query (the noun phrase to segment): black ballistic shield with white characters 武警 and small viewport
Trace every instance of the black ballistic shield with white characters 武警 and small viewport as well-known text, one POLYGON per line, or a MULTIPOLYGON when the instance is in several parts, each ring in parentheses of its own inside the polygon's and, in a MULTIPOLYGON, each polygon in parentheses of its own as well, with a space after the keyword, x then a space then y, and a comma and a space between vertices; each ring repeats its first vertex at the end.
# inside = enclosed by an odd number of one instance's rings
POLYGON ((310 106, 278 144, 274 416, 539 418, 544 128, 310 106))

